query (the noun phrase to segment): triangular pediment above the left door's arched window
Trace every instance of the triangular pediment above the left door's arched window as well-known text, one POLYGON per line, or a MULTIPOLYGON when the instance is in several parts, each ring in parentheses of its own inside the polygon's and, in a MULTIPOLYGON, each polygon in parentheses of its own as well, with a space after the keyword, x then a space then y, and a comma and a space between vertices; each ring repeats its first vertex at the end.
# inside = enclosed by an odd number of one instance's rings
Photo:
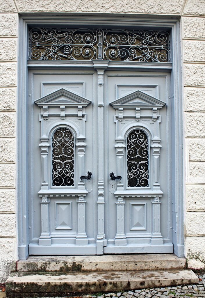
POLYGON ((73 93, 72 91, 61 88, 35 100, 34 103, 36 103, 39 107, 43 107, 45 105, 53 107, 60 105, 87 106, 89 103, 91 103, 91 101, 85 97, 73 93))

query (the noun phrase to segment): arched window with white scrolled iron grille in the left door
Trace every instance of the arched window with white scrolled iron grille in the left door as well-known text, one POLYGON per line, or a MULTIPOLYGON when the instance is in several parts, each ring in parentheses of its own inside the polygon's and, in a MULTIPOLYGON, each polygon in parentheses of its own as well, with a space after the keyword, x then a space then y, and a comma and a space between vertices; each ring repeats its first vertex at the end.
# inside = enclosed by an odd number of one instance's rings
POLYGON ((74 186, 74 137, 66 128, 52 138, 52 185, 74 186))

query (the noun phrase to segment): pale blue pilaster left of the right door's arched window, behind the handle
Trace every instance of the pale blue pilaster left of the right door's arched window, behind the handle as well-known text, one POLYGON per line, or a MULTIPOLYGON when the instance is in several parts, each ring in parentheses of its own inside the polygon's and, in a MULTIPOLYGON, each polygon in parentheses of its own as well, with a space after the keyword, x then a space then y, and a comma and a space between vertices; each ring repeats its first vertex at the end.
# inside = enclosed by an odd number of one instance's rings
POLYGON ((117 175, 116 176, 122 176, 122 181, 117 180, 117 190, 124 190, 124 184, 123 184, 123 158, 124 158, 124 145, 125 139, 116 139, 116 155, 117 155, 117 175))

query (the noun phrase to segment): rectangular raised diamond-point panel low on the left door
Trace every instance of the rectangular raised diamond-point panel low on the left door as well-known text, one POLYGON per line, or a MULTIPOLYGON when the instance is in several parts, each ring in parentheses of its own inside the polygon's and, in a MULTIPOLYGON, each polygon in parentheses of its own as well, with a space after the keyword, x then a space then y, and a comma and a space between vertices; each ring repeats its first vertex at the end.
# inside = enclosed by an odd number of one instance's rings
POLYGON ((72 202, 56 203, 56 229, 71 230, 71 206, 72 202))

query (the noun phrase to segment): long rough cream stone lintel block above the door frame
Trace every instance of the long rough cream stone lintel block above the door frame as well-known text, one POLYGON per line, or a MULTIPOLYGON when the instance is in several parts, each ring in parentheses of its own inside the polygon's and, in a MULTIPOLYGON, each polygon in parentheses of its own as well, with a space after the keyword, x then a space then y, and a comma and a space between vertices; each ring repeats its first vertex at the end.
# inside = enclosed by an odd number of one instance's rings
POLYGON ((179 14, 183 5, 183 0, 173 0, 170 2, 160 0, 17 0, 19 12, 98 12, 98 13, 162 13, 179 14))

